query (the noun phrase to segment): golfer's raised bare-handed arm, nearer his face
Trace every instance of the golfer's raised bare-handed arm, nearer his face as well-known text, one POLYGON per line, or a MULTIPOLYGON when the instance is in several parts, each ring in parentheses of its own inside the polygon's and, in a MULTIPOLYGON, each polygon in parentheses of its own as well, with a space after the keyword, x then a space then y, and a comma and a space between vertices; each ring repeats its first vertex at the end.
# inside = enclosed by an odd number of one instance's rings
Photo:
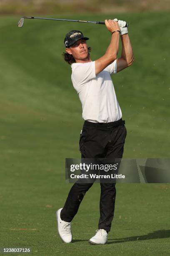
POLYGON ((112 38, 105 54, 95 61, 95 73, 99 74, 103 69, 110 65, 115 59, 117 59, 117 53, 119 49, 120 27, 116 21, 105 20, 105 25, 111 33, 112 38), (117 31, 118 30, 118 31, 117 31))

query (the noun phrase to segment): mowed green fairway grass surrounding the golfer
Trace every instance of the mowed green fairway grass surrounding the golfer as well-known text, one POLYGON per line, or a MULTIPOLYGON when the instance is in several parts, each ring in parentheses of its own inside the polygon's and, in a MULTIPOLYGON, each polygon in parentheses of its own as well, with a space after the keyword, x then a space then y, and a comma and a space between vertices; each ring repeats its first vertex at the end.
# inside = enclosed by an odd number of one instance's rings
MULTIPOLYGON (((124 158, 170 157, 170 13, 54 16, 129 22, 135 62, 112 76, 128 130, 124 158)), ((95 60, 110 33, 103 25, 51 20, 18 28, 19 18, 0 17, 0 247, 30 247, 40 256, 170 255, 170 184, 117 184, 108 244, 90 246, 99 219, 94 184, 72 221, 73 242, 58 237, 55 211, 72 186, 65 158, 80 158, 83 124, 63 40, 81 30, 95 60)))

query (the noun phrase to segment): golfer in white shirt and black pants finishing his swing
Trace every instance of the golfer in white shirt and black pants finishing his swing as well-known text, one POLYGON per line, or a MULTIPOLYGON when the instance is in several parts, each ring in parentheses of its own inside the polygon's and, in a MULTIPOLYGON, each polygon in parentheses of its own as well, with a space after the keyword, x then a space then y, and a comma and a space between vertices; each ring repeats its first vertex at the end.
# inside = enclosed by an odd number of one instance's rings
MULTIPOLYGON (((125 25, 123 20, 105 20, 105 26, 110 31, 110 44, 105 54, 95 61, 90 58, 90 47, 86 42, 89 38, 83 36, 81 31, 73 30, 65 36, 64 59, 71 64, 72 84, 80 97, 82 118, 85 120, 80 134, 80 152, 85 159, 122 158, 126 138, 125 121, 122 120, 110 75, 129 67, 134 61, 125 25), (120 38, 122 53, 117 58, 120 38)), ((100 38, 97 42, 100 44, 100 38)), ((71 221, 92 184, 75 182, 64 207, 57 210, 57 230, 65 243, 72 241, 71 221)), ((89 240, 95 245, 107 243, 115 210, 115 183, 100 183, 100 187, 98 229, 89 240)))

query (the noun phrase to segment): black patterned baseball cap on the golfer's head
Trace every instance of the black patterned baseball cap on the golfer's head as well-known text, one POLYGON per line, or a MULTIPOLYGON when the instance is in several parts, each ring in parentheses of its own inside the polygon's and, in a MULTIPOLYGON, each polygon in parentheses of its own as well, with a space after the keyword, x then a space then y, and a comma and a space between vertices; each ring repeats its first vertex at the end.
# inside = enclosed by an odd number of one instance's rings
POLYGON ((66 48, 69 48, 72 44, 74 44, 79 39, 85 39, 88 40, 88 37, 84 37, 83 33, 79 30, 72 30, 68 32, 64 39, 64 44, 66 48))

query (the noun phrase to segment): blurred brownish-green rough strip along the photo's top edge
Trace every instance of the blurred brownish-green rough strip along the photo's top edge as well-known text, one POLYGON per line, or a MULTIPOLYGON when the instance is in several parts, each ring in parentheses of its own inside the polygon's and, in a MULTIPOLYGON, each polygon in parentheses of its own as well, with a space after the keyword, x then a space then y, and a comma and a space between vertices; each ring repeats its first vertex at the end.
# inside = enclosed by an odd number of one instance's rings
POLYGON ((169 10, 169 0, 0 0, 0 13, 114 13, 169 10))

